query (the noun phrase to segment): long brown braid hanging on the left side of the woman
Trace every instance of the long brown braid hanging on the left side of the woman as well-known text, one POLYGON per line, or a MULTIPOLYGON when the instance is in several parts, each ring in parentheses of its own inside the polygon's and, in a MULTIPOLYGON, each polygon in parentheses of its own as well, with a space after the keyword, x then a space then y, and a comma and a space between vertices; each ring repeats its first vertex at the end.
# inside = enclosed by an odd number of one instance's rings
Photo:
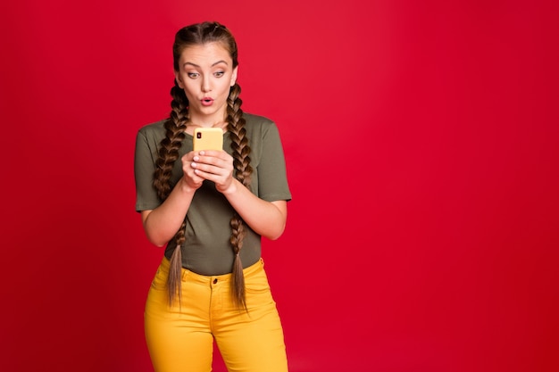
MULTIPOLYGON (((171 194, 171 172, 173 164, 179 159, 179 149, 185 139, 185 130, 188 122, 188 100, 184 91, 179 88, 175 80, 175 86, 171 88, 171 115, 165 121, 165 138, 161 141, 159 158, 155 162, 154 188, 162 202, 171 194)), ((175 298, 180 302, 180 271, 182 269, 182 254, 180 246, 184 244, 186 217, 174 236, 175 249, 171 255, 171 268, 167 277, 167 290, 169 293, 169 304, 172 305, 175 298)))

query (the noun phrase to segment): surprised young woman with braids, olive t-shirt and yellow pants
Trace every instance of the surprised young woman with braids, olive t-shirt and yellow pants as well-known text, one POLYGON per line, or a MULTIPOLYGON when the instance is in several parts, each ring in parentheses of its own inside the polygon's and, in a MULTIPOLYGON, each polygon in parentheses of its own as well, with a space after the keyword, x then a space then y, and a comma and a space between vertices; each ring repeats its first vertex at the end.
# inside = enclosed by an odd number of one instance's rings
POLYGON ((241 110, 229 29, 179 29, 171 115, 138 131, 136 209, 165 246, 146 300, 157 372, 208 372, 213 340, 229 371, 288 371, 283 331, 261 258, 291 199, 276 125, 241 110), (223 150, 193 151, 195 128, 221 128, 223 150))

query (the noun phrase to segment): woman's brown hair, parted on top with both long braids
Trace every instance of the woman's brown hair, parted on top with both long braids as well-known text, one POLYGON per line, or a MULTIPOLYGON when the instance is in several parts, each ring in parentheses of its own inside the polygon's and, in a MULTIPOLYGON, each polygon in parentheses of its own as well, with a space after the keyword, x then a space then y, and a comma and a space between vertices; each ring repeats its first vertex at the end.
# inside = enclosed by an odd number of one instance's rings
MULTIPOLYGON (((174 69, 176 71, 179 70, 180 54, 188 46, 204 45, 212 42, 221 43, 233 60, 233 68, 238 66, 237 43, 229 29, 218 22, 203 22, 179 29, 175 35, 175 42, 172 48, 174 69)), ((227 129, 231 138, 235 178, 248 187, 253 169, 250 166, 250 147, 246 138, 245 119, 241 110, 242 101, 239 98, 240 91, 241 89, 237 83, 230 88, 225 120, 228 123, 227 129)), ((179 159, 179 148, 185 139, 184 132, 188 122, 188 99, 184 91, 179 87, 176 79, 174 87, 171 88, 171 96, 171 114, 169 120, 166 120, 164 124, 166 135, 160 144, 159 158, 156 161, 154 172, 154 187, 162 201, 171 194, 171 170, 174 162, 179 159)), ((180 272, 182 268, 180 247, 186 240, 185 227, 186 217, 179 231, 174 236, 177 245, 171 255, 171 269, 167 278, 170 305, 177 296, 179 296, 180 302, 180 272)), ((230 227, 231 237, 229 243, 235 253, 232 269, 233 285, 231 286, 233 300, 237 303, 238 307, 246 309, 245 278, 243 277, 243 264, 240 259, 245 227, 243 219, 240 218, 237 212, 235 212, 230 220, 230 227)))

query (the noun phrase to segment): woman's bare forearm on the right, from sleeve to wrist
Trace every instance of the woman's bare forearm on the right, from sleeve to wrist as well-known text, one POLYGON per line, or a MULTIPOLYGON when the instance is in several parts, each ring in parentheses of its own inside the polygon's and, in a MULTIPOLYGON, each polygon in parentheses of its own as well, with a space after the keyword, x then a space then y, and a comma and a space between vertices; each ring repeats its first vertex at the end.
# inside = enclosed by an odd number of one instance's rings
POLYGON ((234 179, 223 193, 239 216, 258 235, 277 239, 283 234, 288 215, 285 201, 266 202, 234 179))

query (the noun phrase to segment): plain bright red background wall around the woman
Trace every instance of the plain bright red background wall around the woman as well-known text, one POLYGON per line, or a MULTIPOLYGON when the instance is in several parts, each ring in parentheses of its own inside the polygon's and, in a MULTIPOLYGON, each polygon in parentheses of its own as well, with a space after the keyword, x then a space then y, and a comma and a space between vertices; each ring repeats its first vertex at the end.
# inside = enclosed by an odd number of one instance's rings
MULTIPOLYGON (((4 371, 150 371, 134 211, 171 43, 217 20, 293 193, 263 255, 293 372, 555 371, 558 7, 4 2, 4 371)), ((223 371, 219 358, 215 371, 223 371)))

